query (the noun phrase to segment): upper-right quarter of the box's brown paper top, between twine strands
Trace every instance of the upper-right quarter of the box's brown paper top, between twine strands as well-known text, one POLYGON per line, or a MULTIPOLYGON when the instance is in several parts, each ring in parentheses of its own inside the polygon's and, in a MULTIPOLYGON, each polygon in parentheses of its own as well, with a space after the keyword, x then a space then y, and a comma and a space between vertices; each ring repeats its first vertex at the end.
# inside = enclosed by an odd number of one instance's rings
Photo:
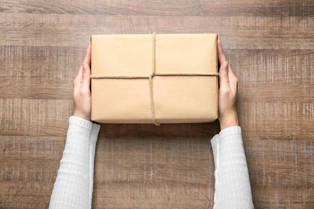
POLYGON ((158 34, 156 73, 217 72, 217 34, 158 34))

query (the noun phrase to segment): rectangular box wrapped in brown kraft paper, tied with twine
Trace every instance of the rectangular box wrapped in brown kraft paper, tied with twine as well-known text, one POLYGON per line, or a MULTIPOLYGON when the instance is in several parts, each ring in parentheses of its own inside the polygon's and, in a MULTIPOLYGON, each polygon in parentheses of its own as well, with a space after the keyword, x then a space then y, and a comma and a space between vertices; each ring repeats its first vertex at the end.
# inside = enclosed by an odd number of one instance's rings
POLYGON ((91 45, 93 121, 217 119, 217 34, 96 35, 91 45))

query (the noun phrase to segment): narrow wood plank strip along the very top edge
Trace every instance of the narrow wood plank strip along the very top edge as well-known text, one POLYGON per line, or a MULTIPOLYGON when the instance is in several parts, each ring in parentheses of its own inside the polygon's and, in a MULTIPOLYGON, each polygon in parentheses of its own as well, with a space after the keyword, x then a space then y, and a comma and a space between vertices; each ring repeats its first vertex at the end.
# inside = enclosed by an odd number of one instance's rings
POLYGON ((307 1, 258 1, 222 0, 212 3, 206 0, 161 0, 161 1, 101 1, 97 5, 85 1, 3 0, 2 12, 36 14, 91 14, 105 16, 313 16, 314 3, 307 1))

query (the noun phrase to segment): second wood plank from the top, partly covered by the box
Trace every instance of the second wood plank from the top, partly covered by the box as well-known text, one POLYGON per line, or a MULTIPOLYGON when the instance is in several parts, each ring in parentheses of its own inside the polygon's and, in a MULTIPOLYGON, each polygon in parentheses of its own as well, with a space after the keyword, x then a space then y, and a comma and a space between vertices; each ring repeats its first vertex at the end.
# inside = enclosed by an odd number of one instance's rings
POLYGON ((82 47, 92 34, 218 33, 226 49, 312 50, 312 17, 101 16, 1 13, 0 44, 82 47), (27 36, 25 34, 28 34, 27 36), (280 38, 278 38, 280 37, 280 38), (280 40, 280 42, 279 42, 280 40))

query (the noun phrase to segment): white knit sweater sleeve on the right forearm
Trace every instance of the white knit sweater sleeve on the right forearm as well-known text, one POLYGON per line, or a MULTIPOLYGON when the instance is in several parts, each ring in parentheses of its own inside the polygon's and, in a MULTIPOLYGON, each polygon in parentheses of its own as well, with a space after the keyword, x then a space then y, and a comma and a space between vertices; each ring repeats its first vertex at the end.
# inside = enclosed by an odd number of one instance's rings
POLYGON ((241 128, 222 130, 211 144, 215 159, 214 208, 254 208, 241 128))

